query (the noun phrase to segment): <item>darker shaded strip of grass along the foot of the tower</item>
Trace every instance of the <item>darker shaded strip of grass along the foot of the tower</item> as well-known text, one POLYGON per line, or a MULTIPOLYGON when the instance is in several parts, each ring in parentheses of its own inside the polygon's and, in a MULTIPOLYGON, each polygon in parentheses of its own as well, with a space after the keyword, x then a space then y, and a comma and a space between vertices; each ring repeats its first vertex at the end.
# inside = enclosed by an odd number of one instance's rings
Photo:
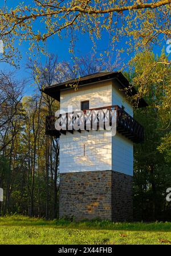
POLYGON ((89 230, 128 230, 128 231, 171 231, 171 222, 111 222, 100 220, 84 220, 80 222, 71 220, 46 221, 43 218, 30 218, 25 216, 0 217, 1 226, 46 226, 63 229, 89 229, 89 230))

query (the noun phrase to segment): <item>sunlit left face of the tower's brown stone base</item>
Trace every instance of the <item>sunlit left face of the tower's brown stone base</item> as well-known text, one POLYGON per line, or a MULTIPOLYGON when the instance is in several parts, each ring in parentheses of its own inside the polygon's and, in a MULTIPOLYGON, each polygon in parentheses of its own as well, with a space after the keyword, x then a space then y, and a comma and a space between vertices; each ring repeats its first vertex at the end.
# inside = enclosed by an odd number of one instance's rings
POLYGON ((60 174, 59 216, 111 219, 111 172, 60 174))

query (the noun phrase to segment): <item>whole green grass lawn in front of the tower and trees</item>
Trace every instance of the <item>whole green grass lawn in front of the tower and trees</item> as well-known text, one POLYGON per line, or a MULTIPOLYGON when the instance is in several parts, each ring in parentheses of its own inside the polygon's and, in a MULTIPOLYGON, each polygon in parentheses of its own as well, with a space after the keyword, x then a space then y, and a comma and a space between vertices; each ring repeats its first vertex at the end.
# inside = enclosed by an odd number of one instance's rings
POLYGON ((46 221, 42 218, 23 216, 0 217, 0 244, 141 245, 165 244, 169 241, 171 222, 71 222, 46 221))

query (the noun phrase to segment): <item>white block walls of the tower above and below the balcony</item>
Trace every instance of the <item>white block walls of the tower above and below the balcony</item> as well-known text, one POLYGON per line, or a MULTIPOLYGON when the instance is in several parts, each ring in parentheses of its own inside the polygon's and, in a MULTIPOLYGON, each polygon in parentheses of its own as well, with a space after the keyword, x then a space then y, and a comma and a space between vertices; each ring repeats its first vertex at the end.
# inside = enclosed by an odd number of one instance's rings
MULTIPOLYGON (((132 105, 119 90, 117 80, 80 86, 77 91, 66 88, 60 92, 60 109, 68 112, 68 106, 72 106, 72 111, 80 110, 84 100, 89 100, 89 108, 123 105, 133 116, 132 105)), ((133 143, 118 133, 112 137, 106 130, 67 132, 60 136, 59 162, 60 173, 115 170, 132 175, 133 143)))

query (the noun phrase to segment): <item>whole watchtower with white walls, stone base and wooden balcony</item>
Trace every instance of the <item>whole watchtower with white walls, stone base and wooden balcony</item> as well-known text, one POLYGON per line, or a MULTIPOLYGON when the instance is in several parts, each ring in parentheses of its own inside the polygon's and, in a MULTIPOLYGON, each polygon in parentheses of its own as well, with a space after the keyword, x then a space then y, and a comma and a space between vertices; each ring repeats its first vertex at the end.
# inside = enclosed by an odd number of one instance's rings
MULTIPOLYGON (((62 111, 68 112, 72 106, 72 113, 83 110, 85 114, 84 129, 74 129, 77 116, 71 118, 68 113, 66 126, 59 131, 55 116, 46 117, 46 134, 60 136, 60 218, 132 220, 133 143, 143 142, 144 128, 133 119, 133 107, 125 95, 128 87, 121 72, 100 72, 44 89, 60 101, 62 111), (78 84, 78 90, 71 84, 78 84), (111 118, 113 110, 115 136, 98 125, 98 116, 103 113, 105 120, 108 113, 111 118), (97 129, 92 129, 91 111, 97 112, 97 129)), ((136 94, 135 88, 127 94, 136 94)), ((139 101, 139 107, 146 105, 143 99, 139 101)))

